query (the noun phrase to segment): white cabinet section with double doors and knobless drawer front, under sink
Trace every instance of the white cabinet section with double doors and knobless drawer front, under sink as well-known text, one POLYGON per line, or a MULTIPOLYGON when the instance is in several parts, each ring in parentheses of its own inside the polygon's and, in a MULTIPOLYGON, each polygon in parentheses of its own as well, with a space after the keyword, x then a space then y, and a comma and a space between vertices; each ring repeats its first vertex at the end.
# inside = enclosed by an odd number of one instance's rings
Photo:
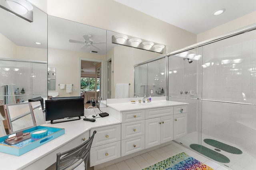
POLYGON ((145 115, 146 149, 173 140, 173 107, 146 109, 145 115))

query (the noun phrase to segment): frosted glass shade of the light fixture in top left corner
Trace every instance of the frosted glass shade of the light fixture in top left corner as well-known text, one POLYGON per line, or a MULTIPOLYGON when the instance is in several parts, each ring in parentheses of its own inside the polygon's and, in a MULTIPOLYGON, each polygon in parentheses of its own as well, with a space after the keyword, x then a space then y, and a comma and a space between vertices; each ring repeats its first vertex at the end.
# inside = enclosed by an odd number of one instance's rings
POLYGON ((6 2, 14 12, 20 15, 33 10, 33 6, 26 0, 6 0, 6 2))

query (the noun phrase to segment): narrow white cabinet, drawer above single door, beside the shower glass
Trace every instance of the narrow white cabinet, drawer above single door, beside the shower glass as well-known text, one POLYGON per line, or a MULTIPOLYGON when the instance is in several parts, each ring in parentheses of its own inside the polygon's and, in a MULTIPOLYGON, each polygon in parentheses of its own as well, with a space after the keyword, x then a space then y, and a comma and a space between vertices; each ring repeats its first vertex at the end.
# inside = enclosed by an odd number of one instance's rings
POLYGON ((187 134, 187 113, 188 106, 174 106, 174 139, 187 134))

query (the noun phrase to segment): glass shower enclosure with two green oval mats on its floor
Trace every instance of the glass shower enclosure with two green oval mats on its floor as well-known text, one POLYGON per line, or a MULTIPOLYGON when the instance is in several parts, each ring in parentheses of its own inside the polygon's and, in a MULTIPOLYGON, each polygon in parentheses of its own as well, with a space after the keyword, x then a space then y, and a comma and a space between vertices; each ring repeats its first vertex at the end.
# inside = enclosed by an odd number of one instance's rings
POLYGON ((256 167, 255 29, 168 55, 168 100, 189 103, 176 142, 233 170, 256 167))

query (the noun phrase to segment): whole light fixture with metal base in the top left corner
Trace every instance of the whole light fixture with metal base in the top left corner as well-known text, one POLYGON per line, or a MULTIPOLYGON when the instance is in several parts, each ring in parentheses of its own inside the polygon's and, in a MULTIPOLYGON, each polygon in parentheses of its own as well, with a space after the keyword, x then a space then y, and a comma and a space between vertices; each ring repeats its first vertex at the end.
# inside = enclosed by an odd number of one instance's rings
POLYGON ((33 6, 26 0, 0 0, 0 8, 26 21, 33 22, 33 6))

